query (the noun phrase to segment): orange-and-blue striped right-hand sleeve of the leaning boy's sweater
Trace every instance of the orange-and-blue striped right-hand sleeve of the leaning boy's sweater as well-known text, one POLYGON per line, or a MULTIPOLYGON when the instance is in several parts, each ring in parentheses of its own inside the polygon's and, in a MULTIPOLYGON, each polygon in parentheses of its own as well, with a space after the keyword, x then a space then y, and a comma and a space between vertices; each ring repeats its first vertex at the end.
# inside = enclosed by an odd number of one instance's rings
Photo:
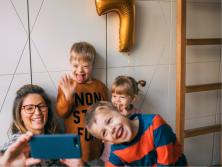
POLYGON ((182 148, 177 142, 176 135, 159 115, 153 118, 152 124, 157 165, 174 165, 182 155, 182 148))

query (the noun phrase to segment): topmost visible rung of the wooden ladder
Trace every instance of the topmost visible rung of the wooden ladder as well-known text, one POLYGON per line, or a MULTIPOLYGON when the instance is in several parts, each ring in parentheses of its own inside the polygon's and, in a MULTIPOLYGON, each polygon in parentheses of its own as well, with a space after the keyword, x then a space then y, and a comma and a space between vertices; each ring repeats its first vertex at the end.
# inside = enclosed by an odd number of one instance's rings
POLYGON ((187 39, 186 45, 220 45, 221 38, 187 39))

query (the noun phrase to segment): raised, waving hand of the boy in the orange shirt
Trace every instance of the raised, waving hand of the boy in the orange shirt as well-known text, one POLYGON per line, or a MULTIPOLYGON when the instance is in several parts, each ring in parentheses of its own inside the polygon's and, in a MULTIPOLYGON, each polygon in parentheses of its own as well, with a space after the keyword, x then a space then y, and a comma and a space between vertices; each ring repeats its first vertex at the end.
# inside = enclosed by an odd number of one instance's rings
POLYGON ((66 100, 71 101, 72 95, 76 90, 76 82, 72 82, 70 75, 64 75, 59 81, 59 87, 62 89, 66 100))

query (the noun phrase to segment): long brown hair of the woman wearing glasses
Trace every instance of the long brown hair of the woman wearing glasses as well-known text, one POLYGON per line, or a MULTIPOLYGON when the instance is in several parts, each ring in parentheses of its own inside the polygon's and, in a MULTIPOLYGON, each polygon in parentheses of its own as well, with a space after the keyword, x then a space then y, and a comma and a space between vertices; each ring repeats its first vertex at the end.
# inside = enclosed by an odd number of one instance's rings
POLYGON ((27 131, 21 119, 21 109, 24 98, 29 94, 38 94, 44 99, 48 107, 48 120, 44 127, 44 132, 46 134, 54 133, 56 131, 56 124, 54 122, 51 101, 43 88, 32 84, 24 85, 16 92, 12 110, 13 122, 11 125, 11 132, 25 133, 27 131))

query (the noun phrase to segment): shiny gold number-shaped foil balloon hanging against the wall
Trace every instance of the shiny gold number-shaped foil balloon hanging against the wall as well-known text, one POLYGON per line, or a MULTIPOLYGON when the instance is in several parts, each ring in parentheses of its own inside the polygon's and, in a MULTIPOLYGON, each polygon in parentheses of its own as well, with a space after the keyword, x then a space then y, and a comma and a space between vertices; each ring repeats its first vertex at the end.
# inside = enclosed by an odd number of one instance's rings
POLYGON ((134 44, 135 0, 95 0, 95 2, 100 16, 109 12, 116 12, 119 15, 119 51, 129 52, 134 44))

